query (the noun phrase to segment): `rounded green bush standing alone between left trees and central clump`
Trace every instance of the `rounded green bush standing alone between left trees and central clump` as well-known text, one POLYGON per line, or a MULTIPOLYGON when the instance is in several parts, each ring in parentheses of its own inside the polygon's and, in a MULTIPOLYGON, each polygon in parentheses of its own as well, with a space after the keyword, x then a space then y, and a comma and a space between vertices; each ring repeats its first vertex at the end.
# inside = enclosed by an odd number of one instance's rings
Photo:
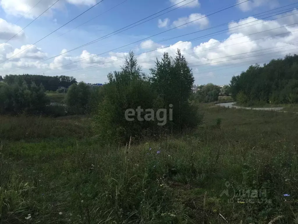
POLYGON ((66 104, 74 114, 85 114, 88 111, 88 102, 92 87, 84 82, 72 84, 66 93, 66 104))

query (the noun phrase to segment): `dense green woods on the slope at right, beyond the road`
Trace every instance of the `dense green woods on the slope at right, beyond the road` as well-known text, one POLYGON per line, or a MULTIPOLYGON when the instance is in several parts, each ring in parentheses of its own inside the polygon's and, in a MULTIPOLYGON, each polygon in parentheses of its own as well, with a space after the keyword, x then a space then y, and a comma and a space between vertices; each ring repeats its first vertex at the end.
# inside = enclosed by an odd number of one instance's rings
POLYGON ((273 59, 263 67, 251 65, 232 77, 230 88, 233 99, 241 104, 298 103, 298 55, 273 59))

